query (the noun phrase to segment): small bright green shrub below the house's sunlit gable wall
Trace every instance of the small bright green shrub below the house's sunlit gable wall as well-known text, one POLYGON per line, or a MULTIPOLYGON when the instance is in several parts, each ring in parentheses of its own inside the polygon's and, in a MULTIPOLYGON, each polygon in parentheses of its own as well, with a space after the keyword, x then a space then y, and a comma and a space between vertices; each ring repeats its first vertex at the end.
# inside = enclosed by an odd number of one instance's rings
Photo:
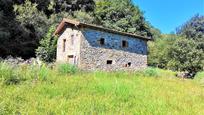
POLYGON ((74 74, 77 72, 77 67, 70 64, 59 64, 57 70, 60 74, 74 74))

